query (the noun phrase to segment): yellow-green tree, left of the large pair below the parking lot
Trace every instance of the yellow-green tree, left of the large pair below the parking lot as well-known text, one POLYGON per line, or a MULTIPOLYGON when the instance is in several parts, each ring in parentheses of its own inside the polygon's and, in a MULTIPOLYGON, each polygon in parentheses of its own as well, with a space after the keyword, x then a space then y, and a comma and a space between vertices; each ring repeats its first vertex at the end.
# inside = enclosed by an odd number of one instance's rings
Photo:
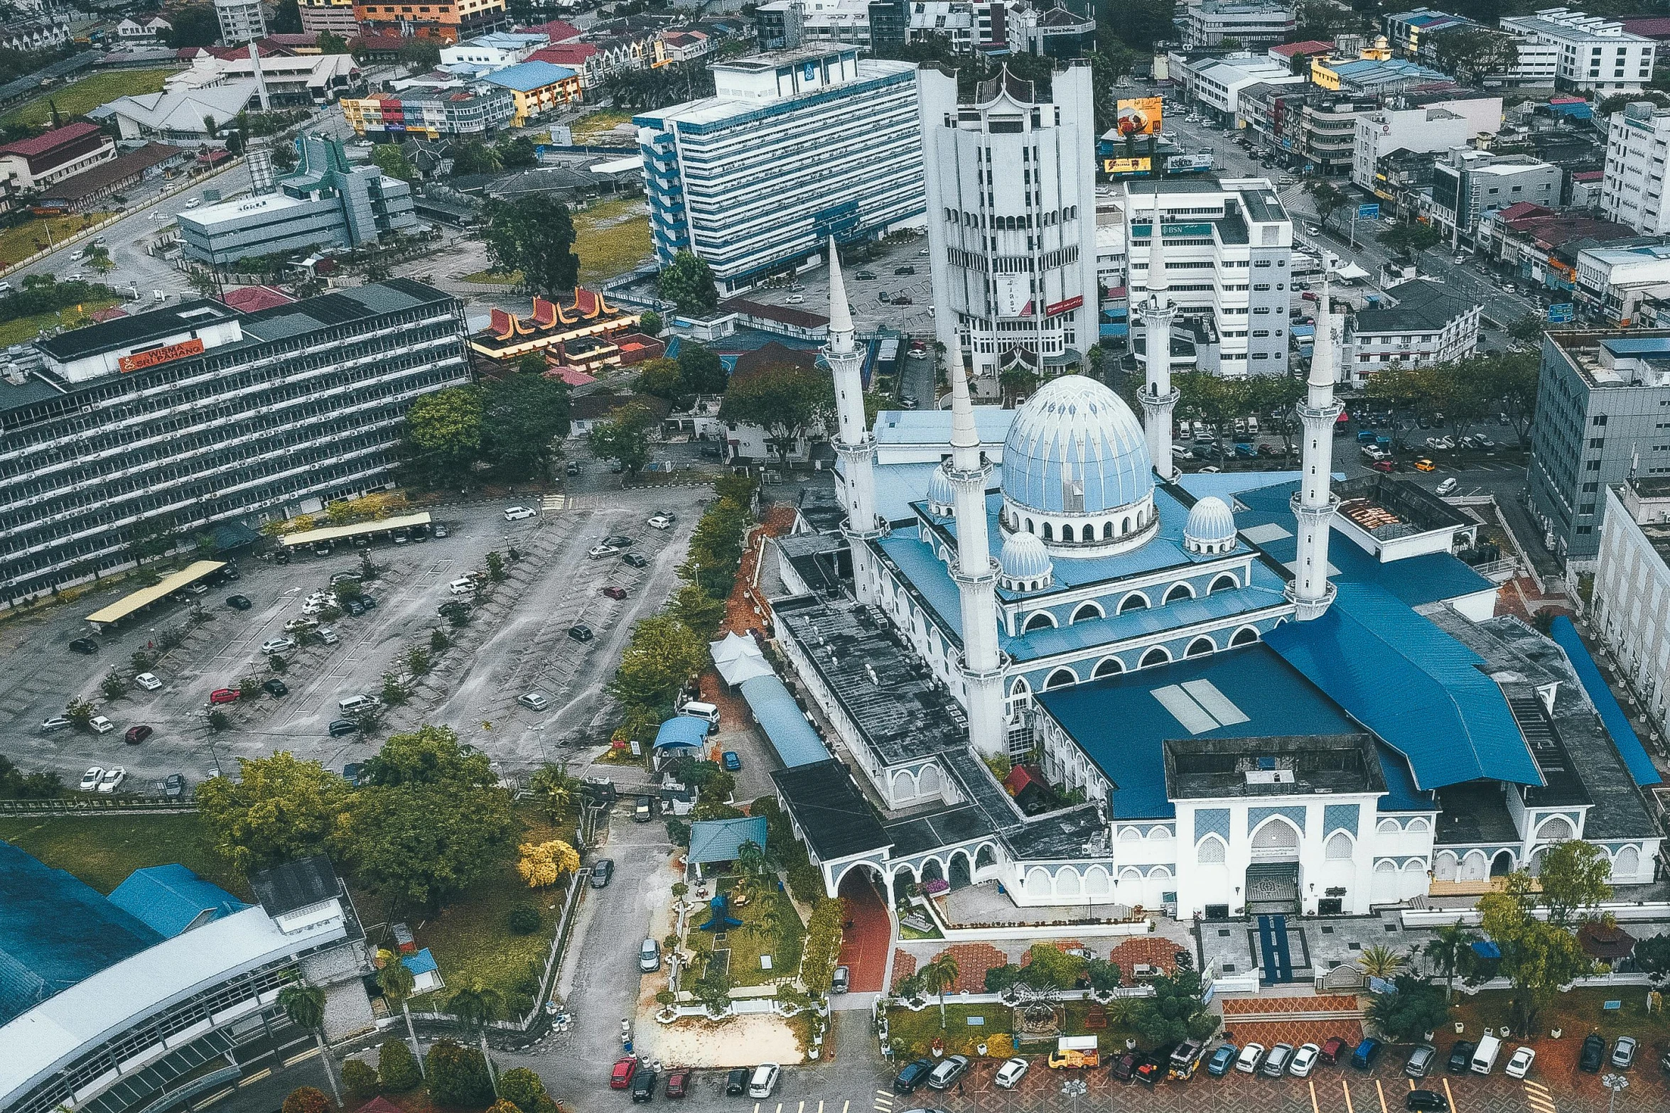
POLYGON ((197 786, 197 813, 215 851, 239 873, 316 854, 342 833, 347 783, 281 749, 240 758, 240 776, 197 786))

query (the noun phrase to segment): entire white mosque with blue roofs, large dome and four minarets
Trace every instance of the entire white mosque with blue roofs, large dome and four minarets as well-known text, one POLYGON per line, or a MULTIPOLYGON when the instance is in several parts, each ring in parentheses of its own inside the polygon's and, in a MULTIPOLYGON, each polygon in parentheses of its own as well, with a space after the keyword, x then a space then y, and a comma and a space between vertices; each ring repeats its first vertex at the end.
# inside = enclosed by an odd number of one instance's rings
MULTIPOLYGON (((1176 314, 1159 227, 1131 244, 1151 337, 1176 314)), ((833 247, 830 300, 840 524, 782 539, 772 611, 830 726, 828 759, 773 776, 832 894, 995 883, 1037 923, 1351 916, 1483 891, 1571 838, 1615 886, 1657 879, 1658 774, 1605 726, 1603 684, 1493 617, 1496 586, 1455 556, 1478 522, 1333 476, 1326 285, 1298 474, 1179 476, 1154 342, 1142 422, 1077 374, 974 405, 954 362, 949 410, 868 426, 833 247)))

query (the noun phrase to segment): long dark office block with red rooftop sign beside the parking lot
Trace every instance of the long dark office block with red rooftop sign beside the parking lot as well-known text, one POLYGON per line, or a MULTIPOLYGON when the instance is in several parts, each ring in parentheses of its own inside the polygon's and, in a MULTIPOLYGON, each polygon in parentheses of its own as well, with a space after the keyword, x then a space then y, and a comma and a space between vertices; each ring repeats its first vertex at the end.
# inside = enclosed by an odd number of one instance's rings
POLYGON ((387 487, 412 399, 469 382, 463 304, 409 279, 240 314, 220 302, 40 340, 0 380, 0 597, 180 536, 387 487))

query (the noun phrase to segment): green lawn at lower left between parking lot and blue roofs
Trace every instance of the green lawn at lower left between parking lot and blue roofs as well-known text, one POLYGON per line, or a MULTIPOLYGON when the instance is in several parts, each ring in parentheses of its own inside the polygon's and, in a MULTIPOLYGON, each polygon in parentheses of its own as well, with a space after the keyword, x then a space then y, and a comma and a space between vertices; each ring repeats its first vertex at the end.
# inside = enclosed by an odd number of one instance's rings
POLYGON ((0 819, 0 839, 67 869, 100 893, 142 866, 180 863, 249 899, 249 884, 202 838, 197 816, 28 816, 0 819))

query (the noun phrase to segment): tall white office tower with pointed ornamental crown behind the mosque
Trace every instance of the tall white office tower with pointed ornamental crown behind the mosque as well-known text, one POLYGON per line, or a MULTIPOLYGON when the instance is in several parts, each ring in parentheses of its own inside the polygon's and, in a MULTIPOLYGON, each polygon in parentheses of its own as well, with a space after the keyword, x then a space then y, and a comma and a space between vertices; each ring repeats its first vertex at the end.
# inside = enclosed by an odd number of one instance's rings
POLYGON ((1079 370, 1099 312, 1091 67, 1049 93, 1007 68, 967 103, 935 68, 918 88, 939 342, 977 375, 1079 370))

